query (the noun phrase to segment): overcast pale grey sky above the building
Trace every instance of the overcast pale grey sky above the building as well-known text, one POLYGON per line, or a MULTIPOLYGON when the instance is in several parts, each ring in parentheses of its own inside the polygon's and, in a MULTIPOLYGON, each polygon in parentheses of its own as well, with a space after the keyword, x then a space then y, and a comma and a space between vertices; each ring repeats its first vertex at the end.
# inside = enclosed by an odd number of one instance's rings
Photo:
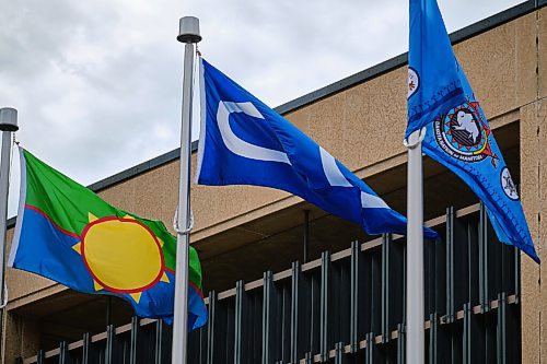
MULTIPOLYGON (((449 32, 520 2, 439 0, 449 32)), ((272 107, 408 47, 408 0, 0 0, 0 107, 19 109, 22 145, 84 185, 179 145, 181 16, 200 19, 206 59, 272 107)))

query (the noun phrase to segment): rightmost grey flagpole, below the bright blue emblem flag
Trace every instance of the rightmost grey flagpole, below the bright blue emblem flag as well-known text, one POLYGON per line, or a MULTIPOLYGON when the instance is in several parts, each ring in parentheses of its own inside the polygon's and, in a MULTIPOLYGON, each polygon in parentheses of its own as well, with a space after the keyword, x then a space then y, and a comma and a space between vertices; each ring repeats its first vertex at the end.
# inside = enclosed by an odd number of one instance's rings
POLYGON ((407 308, 406 362, 424 363, 423 332, 423 175, 421 141, 426 129, 417 130, 405 141, 408 149, 407 196, 407 308))

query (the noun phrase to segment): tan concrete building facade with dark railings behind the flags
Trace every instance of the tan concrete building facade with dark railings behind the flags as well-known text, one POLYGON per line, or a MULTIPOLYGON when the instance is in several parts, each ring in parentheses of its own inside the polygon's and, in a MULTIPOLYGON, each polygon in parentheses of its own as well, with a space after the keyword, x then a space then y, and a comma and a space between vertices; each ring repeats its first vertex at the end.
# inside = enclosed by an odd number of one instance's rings
MULTIPOLYGON (((524 2, 451 36, 520 185, 544 261, 546 3, 524 2)), ((406 80, 401 55, 277 109, 403 213, 406 80)), ((172 151, 91 188, 170 226, 177 155, 172 151)), ((366 236, 267 188, 193 186, 191 204, 191 243, 210 309, 208 327, 190 337, 191 363, 404 361, 403 237, 366 236)), ((424 220, 442 235, 426 243, 428 361, 547 362, 545 265, 497 242, 476 197, 427 157, 424 220)), ((3 363, 168 362, 170 328, 131 318, 120 300, 11 269, 7 282, 3 363)))

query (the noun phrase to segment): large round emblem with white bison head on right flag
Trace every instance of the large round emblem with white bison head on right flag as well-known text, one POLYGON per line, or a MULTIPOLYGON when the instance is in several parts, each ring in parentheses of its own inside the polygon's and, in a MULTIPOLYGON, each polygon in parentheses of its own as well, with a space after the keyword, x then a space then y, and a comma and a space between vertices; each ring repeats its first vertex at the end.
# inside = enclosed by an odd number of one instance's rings
POLYGON ((498 156, 490 149, 490 128, 482 121, 478 103, 466 102, 433 121, 439 146, 462 162, 480 162, 491 157, 496 167, 498 156))

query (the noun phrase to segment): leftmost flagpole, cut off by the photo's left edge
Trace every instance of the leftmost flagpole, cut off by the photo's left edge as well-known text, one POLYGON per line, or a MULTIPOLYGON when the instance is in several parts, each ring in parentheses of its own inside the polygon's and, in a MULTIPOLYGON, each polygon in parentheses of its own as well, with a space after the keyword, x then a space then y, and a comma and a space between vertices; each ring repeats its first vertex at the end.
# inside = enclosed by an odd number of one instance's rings
POLYGON ((4 292, 4 257, 8 227, 8 191, 10 189, 11 133, 18 129, 18 110, 11 107, 0 108, 0 130, 2 131, 0 156, 0 305, 3 305, 7 301, 4 292))

